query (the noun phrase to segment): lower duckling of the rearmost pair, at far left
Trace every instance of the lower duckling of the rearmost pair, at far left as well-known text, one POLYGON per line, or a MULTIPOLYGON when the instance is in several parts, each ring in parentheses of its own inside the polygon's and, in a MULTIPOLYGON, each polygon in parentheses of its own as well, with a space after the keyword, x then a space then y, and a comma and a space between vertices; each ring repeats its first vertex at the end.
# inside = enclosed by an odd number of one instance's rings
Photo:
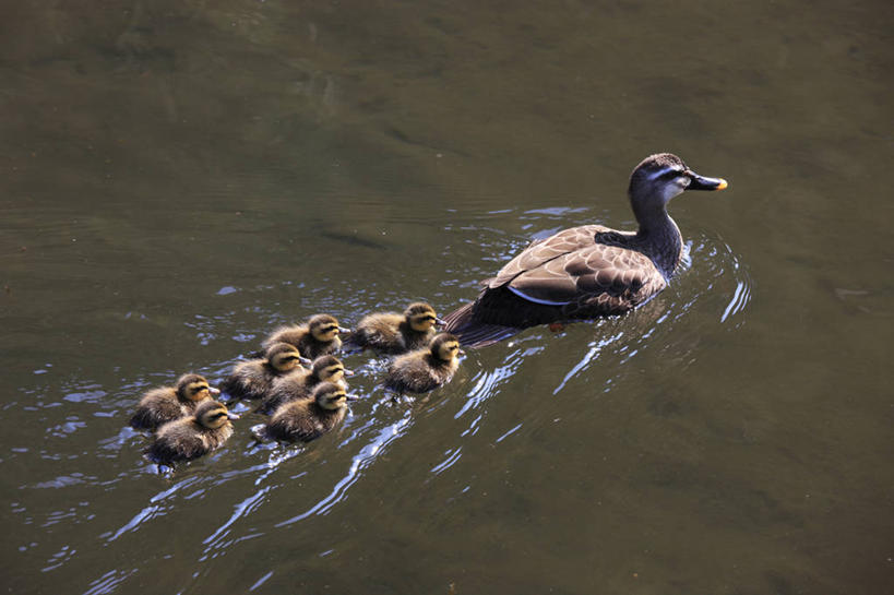
POLYGON ((203 401, 195 413, 168 421, 155 435, 146 455, 158 464, 190 461, 219 448, 233 436, 230 419, 239 419, 219 401, 203 401))

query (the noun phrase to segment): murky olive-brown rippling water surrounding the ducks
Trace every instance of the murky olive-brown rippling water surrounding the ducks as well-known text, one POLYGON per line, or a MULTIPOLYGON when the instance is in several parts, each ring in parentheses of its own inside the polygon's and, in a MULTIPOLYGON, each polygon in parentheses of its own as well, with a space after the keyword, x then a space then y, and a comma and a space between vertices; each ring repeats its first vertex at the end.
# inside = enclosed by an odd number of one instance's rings
POLYGON ((889 2, 0 9, 9 593, 880 594, 894 581, 889 2), (723 193, 621 320, 470 353, 306 448, 162 476, 146 389, 273 326, 449 311, 629 228, 671 151, 723 193))

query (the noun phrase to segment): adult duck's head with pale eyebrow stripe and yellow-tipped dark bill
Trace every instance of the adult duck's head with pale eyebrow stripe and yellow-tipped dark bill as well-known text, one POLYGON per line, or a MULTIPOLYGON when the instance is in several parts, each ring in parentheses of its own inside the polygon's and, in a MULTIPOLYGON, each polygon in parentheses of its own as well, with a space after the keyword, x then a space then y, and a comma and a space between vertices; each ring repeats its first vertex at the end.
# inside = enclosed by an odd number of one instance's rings
POLYGON ((671 153, 649 155, 630 175, 630 202, 637 215, 655 207, 664 209, 670 199, 684 190, 723 190, 723 178, 706 178, 691 170, 671 153))

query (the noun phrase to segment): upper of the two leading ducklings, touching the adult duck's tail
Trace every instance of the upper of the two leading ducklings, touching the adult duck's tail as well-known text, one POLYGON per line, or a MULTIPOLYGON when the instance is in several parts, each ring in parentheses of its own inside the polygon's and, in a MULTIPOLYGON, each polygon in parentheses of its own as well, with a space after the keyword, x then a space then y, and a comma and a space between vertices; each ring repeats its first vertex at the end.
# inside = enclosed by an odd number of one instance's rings
POLYGON ((420 349, 434 336, 434 326, 445 324, 434 308, 417 301, 403 313, 378 312, 363 317, 345 340, 345 349, 373 349, 381 354, 405 354, 420 349))

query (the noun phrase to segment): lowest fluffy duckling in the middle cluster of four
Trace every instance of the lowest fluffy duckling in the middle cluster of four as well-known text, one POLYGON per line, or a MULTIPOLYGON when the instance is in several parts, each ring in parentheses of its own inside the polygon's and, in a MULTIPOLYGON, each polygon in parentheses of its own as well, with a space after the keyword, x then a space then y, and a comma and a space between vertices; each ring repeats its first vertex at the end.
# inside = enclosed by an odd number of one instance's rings
POLYGON ((327 381, 320 382, 311 394, 312 398, 293 401, 276 409, 263 430, 264 437, 309 442, 341 424, 347 402, 358 398, 345 393, 343 386, 327 381))

